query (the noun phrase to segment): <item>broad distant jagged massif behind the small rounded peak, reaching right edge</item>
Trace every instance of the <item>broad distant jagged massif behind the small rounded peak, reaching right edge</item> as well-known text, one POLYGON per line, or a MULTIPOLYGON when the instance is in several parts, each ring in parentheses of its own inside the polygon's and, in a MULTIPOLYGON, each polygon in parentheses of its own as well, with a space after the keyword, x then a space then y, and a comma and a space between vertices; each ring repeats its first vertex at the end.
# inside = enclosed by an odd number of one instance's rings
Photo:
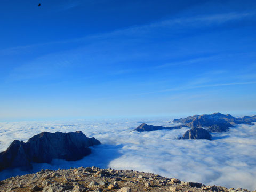
POLYGON ((187 118, 174 119, 174 123, 183 123, 187 127, 204 127, 209 132, 223 132, 227 131, 229 127, 234 127, 235 124, 251 124, 256 122, 256 115, 249 117, 236 118, 230 114, 214 113, 210 115, 194 115, 187 118))

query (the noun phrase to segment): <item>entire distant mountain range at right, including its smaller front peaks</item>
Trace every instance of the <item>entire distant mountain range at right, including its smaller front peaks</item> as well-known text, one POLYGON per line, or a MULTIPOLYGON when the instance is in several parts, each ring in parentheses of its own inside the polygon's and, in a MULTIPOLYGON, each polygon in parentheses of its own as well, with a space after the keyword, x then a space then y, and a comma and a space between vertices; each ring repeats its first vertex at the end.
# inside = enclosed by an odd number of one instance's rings
MULTIPOLYGON (((209 132, 225 132, 228 131, 229 127, 234 127, 236 124, 251 124, 256 122, 256 115, 254 116, 244 116, 244 117, 233 117, 230 114, 213 113, 210 115, 193 115, 187 118, 174 119, 173 123, 182 123, 178 126, 163 127, 163 126, 153 126, 142 123, 134 131, 156 131, 156 130, 171 130, 171 129, 181 129, 182 127, 190 127, 183 137, 179 139, 209 139, 211 140, 211 135, 209 132)), ((169 122, 171 123, 171 122, 169 122)))

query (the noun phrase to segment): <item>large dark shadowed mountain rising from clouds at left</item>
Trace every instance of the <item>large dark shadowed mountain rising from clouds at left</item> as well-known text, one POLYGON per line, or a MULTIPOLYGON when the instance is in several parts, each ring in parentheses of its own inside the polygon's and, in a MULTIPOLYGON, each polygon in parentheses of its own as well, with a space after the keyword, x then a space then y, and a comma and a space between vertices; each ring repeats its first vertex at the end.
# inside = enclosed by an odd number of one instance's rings
POLYGON ((100 145, 95 138, 87 138, 82 131, 69 133, 42 132, 28 142, 14 140, 0 153, 0 171, 20 167, 28 170, 31 163, 50 163, 52 159, 76 161, 90 154, 90 146, 100 145))

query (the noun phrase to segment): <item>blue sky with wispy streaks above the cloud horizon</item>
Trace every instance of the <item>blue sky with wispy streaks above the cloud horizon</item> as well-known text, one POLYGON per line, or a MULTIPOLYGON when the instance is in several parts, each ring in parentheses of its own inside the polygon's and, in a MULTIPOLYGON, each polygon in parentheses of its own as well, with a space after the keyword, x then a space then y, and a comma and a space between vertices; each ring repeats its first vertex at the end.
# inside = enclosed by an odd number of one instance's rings
POLYGON ((0 120, 255 113, 255 7, 1 0, 0 120))

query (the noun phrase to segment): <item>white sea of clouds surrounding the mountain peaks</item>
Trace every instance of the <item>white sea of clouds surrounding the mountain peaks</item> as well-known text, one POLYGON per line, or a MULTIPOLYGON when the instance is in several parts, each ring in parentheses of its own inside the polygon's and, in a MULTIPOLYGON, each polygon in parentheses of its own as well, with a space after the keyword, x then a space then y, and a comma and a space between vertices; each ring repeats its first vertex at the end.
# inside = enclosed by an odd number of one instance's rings
MULTIPOLYGON (((0 122, 0 151, 14 140, 27 141, 43 131, 81 130, 102 145, 80 161, 55 159, 51 164, 34 164, 33 172, 80 166, 133 169, 183 181, 256 189, 256 124, 237 125, 225 133, 212 133, 213 140, 177 140, 186 128, 136 132, 141 123, 174 126, 168 118, 113 119, 51 122, 0 122)), ((19 169, 0 172, 0 180, 26 174, 19 169)))

